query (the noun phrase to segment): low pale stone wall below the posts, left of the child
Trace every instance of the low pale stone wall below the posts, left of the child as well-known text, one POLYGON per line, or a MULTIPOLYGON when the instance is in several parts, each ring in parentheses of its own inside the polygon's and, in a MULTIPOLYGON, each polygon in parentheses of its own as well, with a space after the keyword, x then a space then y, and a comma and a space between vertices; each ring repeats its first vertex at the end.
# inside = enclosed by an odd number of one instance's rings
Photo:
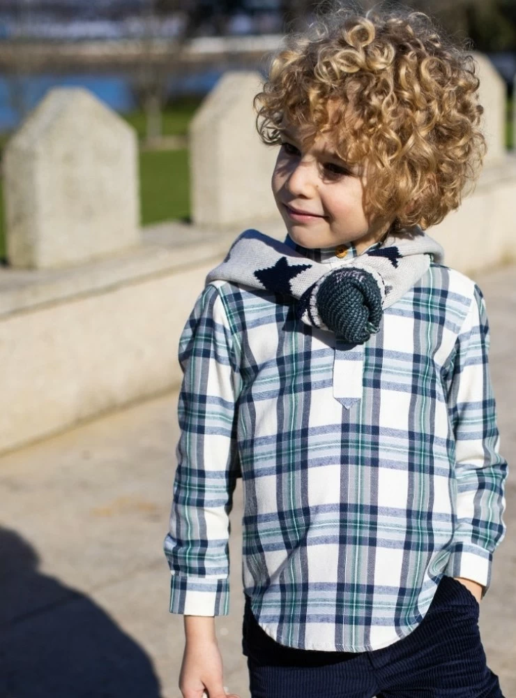
MULTIPOLYGON (((244 228, 214 235, 167 223, 104 260, 1 269, 0 453, 176 387, 184 322, 244 228)), ((278 221, 260 229, 282 234, 278 221)))

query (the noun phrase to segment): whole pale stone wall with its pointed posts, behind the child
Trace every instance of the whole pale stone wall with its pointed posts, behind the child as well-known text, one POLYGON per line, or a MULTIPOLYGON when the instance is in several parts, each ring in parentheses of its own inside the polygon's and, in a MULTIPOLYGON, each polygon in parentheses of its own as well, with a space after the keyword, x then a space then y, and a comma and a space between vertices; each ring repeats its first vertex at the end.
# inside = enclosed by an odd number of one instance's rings
MULTIPOLYGON (((505 92, 479 64, 490 158, 460 210, 428 231, 466 274, 515 259, 505 92)), ((192 225, 139 228, 135 133, 86 91, 53 91, 14 135, 3 162, 0 453, 176 387, 179 335, 206 272, 246 227, 284 239, 257 89, 258 73, 226 75, 192 121, 192 225)))

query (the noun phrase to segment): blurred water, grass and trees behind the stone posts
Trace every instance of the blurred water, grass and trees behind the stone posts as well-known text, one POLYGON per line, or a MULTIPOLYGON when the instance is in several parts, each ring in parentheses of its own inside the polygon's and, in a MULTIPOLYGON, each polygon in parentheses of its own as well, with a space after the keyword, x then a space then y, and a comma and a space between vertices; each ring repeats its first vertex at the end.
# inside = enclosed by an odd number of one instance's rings
MULTIPOLYGON (((0 148, 56 86, 84 86, 137 128, 142 225, 190 216, 188 123, 226 70, 263 71, 310 0, 0 0, 0 148), (176 181, 163 175, 174 172, 176 181)), ((363 5, 372 2, 363 0, 363 5)), ((507 85, 511 148, 515 0, 405 3, 491 59, 507 85)), ((2 197, 0 195, 0 205, 2 197)), ((0 211, 1 213, 1 211, 0 211)), ((3 215, 0 257, 5 259, 3 215)))

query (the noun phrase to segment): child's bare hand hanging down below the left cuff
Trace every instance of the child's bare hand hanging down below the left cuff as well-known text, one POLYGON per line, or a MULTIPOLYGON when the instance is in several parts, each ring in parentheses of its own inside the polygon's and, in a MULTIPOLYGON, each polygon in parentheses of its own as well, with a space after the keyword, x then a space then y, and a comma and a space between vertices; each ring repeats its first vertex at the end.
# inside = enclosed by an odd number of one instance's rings
POLYGON ((179 690, 183 698, 240 698, 226 693, 222 680, 222 657, 217 641, 212 638, 187 642, 183 653, 179 690))

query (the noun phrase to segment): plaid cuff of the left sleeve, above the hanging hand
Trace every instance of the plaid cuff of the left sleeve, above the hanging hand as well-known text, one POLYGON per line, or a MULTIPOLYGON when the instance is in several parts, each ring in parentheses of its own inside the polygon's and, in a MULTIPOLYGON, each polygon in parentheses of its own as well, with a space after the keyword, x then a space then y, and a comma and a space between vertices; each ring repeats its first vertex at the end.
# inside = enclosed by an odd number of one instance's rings
POLYGON ((172 573, 170 612, 185 616, 227 616, 229 580, 172 573))

